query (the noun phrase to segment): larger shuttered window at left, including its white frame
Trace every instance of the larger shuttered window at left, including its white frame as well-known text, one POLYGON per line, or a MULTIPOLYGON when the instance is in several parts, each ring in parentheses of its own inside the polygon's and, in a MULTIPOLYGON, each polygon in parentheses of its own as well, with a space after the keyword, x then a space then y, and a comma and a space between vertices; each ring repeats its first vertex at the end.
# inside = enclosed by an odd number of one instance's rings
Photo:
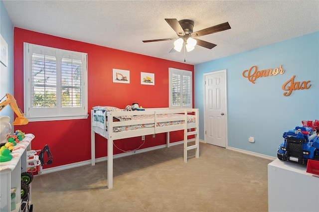
POLYGON ((87 54, 24 43, 29 121, 87 118, 87 54))

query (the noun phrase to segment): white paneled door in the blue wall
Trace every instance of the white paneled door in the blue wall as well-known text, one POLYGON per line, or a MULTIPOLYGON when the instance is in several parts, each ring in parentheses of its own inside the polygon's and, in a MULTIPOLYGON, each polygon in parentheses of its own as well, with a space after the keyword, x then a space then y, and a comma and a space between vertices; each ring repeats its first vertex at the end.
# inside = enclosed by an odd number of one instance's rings
POLYGON ((226 147, 226 70, 204 74, 204 80, 204 139, 206 143, 226 147))

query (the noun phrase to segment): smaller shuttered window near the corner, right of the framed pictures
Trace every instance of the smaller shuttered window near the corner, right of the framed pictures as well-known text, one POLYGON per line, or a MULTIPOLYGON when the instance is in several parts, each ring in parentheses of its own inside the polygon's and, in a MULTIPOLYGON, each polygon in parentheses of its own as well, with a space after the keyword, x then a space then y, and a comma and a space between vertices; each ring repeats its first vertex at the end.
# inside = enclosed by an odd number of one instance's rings
POLYGON ((169 68, 169 107, 192 108, 192 72, 169 68))

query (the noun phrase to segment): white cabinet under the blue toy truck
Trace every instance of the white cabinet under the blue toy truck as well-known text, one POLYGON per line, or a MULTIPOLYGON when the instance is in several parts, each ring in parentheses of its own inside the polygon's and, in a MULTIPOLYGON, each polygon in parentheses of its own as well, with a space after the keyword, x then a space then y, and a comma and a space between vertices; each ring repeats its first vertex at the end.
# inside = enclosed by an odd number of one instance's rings
POLYGON ((269 212, 318 212, 319 176, 306 165, 274 160, 268 164, 269 212))

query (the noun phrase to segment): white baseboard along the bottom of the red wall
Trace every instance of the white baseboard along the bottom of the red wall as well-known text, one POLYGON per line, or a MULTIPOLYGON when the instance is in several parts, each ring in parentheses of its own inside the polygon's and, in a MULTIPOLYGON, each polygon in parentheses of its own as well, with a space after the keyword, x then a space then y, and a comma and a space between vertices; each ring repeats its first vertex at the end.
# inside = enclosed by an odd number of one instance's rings
MULTIPOLYGON (((195 139, 189 139, 189 141, 194 141, 195 139)), ((178 144, 182 144, 183 141, 176 141, 173 143, 169 143, 169 146, 175 146, 178 144)), ((161 148, 166 148, 166 144, 160 145, 160 146, 153 146, 153 147, 148 147, 145 149, 140 149, 140 150, 136 150, 136 151, 132 151, 132 152, 124 152, 124 153, 120 153, 120 154, 116 154, 113 155, 113 158, 120 158, 120 157, 125 157, 125 156, 129 156, 129 155, 134 155, 134 154, 139 154, 139 153, 143 153, 143 152, 148 152, 148 151, 153 151, 156 149, 161 149, 161 148)), ((102 162, 102 161, 107 161, 108 157, 100 157, 100 158, 96 158, 95 162, 102 162)), ((89 165, 91 164, 91 160, 85 160, 85 161, 81 161, 81 162, 76 162, 76 163, 70 163, 70 164, 66 164, 66 165, 62 165, 62 166, 56 166, 56 167, 52 167, 52 168, 46 168, 46 169, 42 169, 40 172, 38 172, 38 175, 41 174, 48 174, 51 172, 57 172, 57 171, 62 171, 65 169, 71 169, 71 168, 75 168, 75 167, 79 167, 79 166, 85 166, 85 165, 89 165)))

